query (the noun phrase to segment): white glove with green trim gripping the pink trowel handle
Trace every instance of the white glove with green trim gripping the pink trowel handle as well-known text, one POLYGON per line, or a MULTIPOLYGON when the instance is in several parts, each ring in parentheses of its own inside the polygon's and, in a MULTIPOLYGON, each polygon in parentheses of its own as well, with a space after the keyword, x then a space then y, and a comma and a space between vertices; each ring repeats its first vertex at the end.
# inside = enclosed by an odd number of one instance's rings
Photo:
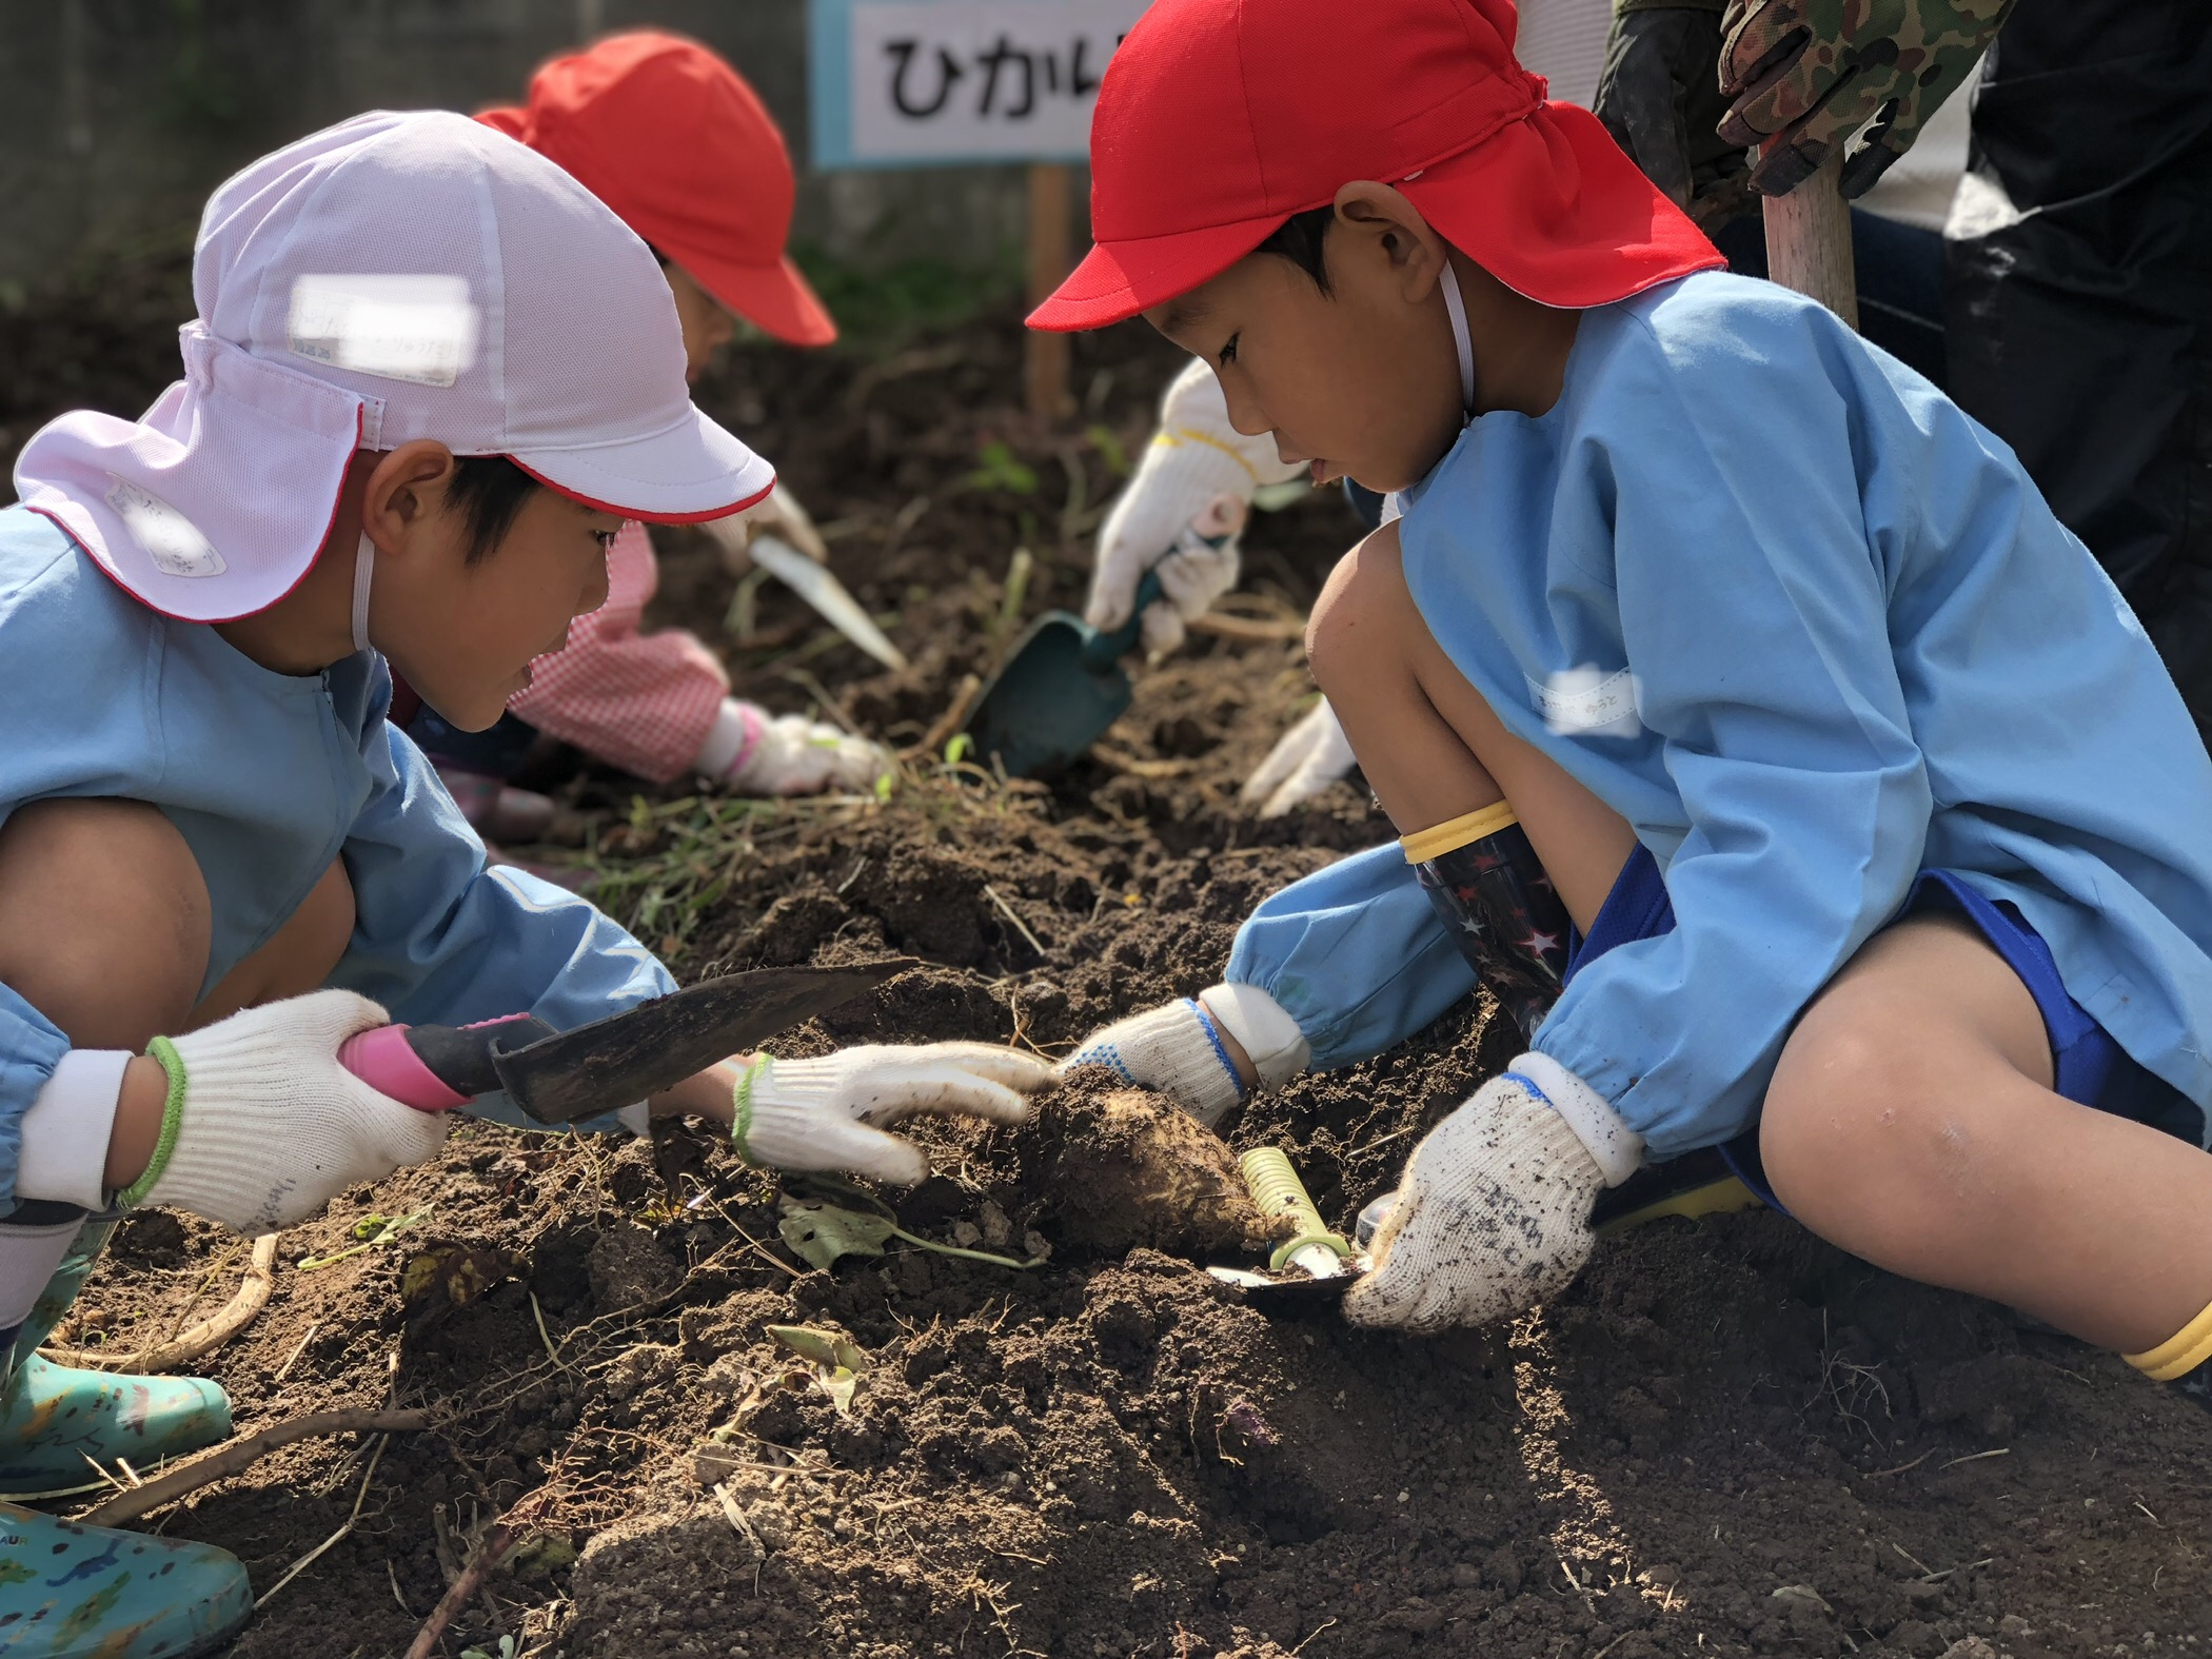
POLYGON ((314 991, 155 1037, 148 1053, 168 1073, 161 1141, 117 1203, 279 1232, 349 1186, 431 1157, 447 1115, 403 1106, 338 1064, 347 1037, 380 1024, 389 1018, 367 998, 314 991))

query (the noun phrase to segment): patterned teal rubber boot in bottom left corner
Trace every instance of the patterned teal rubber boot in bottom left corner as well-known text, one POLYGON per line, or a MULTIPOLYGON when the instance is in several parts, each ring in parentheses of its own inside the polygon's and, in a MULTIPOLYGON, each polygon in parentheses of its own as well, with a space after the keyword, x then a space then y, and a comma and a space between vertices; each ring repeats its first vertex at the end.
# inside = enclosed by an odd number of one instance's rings
POLYGON ((246 1568, 219 1548, 0 1504, 7 1659, 190 1659, 252 1610, 246 1568))

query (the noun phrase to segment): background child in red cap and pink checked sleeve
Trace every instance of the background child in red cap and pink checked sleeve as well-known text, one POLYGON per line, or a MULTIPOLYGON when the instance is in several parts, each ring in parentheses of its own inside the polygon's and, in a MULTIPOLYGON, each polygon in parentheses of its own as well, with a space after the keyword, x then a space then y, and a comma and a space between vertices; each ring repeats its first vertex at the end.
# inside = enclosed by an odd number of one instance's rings
MULTIPOLYGON (((529 102, 478 115, 557 161, 659 257, 684 323, 692 380, 728 345, 734 316, 787 345, 827 345, 836 323, 785 257, 792 161, 745 80, 697 42, 641 29, 555 58, 529 102)), ((774 531, 823 557, 787 489, 743 522, 706 529, 732 555, 774 531)), ((690 633, 644 633, 659 586, 646 526, 622 526, 606 560, 606 604, 577 617, 568 644, 533 664, 515 714, 493 734, 451 732, 436 714, 411 730, 453 799, 487 836, 535 838, 551 810, 502 787, 535 732, 666 783, 697 774, 741 794, 865 790, 889 765, 874 743, 801 714, 730 697, 730 677, 690 633)))

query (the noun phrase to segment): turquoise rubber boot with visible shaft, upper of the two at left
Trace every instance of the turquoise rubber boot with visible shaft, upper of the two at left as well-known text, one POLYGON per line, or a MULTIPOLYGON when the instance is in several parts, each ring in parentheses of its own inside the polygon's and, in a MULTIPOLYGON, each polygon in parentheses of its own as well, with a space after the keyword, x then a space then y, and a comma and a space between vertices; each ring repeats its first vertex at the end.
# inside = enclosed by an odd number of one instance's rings
MULTIPOLYGON (((86 1221, 7 1349, 0 1380, 0 1493, 42 1493, 93 1480, 86 1458, 146 1471, 161 1458, 230 1438, 230 1398, 199 1376, 80 1371, 38 1356, 84 1290, 113 1221, 86 1221)), ((9 1652, 0 1635, 0 1655, 9 1652)))

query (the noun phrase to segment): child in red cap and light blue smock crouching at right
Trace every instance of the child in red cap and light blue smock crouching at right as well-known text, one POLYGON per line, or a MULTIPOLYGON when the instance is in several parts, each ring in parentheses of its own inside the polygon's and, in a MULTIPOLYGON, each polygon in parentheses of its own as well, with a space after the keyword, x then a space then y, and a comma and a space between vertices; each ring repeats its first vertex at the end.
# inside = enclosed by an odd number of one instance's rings
POLYGON ((2212 761, 2004 445, 1719 257, 1506 0, 1159 0, 1031 319, 1144 314, 1402 518, 1314 675, 1402 832, 1077 1060, 1206 1117, 1486 984, 1531 1053, 1413 1152, 1347 1314, 1559 1290, 1723 1148, 1814 1232, 2157 1378, 2212 1358, 2212 761))

